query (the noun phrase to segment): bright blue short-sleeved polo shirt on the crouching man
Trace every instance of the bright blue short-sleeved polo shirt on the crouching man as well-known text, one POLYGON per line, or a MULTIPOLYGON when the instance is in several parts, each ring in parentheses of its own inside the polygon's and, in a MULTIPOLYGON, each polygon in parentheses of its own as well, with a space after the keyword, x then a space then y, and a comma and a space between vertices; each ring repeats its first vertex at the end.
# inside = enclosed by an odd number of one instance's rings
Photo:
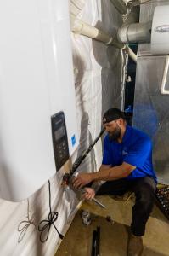
POLYGON ((136 166, 127 179, 150 176, 156 182, 151 140, 143 131, 128 125, 122 143, 110 141, 108 135, 104 137, 103 165, 120 166, 122 162, 136 166))

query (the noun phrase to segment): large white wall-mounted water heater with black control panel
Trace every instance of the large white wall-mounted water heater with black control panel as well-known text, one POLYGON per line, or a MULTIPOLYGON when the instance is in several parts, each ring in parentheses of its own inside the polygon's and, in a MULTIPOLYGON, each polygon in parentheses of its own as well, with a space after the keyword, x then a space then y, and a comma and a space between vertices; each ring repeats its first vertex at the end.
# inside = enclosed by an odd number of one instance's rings
POLYGON ((1 1, 0 31, 0 195, 21 201, 78 144, 68 1, 1 1))

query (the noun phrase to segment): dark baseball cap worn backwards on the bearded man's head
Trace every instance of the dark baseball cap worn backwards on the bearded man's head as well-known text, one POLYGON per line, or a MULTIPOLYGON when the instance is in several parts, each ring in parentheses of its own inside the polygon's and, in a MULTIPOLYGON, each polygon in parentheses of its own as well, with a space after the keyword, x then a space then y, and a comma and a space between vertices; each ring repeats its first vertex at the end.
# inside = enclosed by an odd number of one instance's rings
POLYGON ((110 123, 116 119, 126 119, 125 113, 122 112, 119 108, 110 108, 104 113, 103 123, 110 123))

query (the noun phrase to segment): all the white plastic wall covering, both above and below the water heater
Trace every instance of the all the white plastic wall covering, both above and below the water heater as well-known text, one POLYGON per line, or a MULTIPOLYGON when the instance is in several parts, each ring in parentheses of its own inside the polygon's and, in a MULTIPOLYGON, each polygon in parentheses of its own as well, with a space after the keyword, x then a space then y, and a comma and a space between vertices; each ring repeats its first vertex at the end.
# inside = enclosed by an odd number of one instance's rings
MULTIPOLYGON (((110 1, 87 0, 78 19, 102 28, 114 34, 121 26, 121 15, 110 1)), ((101 129, 102 113, 107 108, 123 105, 123 82, 125 56, 119 49, 93 41, 80 35, 72 34, 74 73, 76 79, 76 113, 80 134, 80 146, 74 155, 81 154, 98 136, 101 129)), ((92 172, 99 169, 102 158, 101 141, 97 143, 91 154, 87 156, 81 170, 92 172)), ((59 232, 65 233, 74 216, 77 199, 70 189, 60 188, 62 171, 51 178, 52 209, 59 212, 55 225, 59 232)), ((37 225, 48 218, 48 183, 28 200, 21 203, 0 201, 0 255, 3 256, 52 256, 59 244, 59 237, 52 226, 48 241, 39 241, 37 225), (28 209, 29 208, 29 209, 28 209), (28 211, 29 210, 29 211, 28 211), (29 214, 28 214, 29 213, 29 214), (21 221, 32 218, 33 224, 28 226, 25 236, 21 237, 18 226, 21 221), (18 242, 19 238, 21 239, 18 242)), ((22 234, 23 235, 23 234, 22 234)))

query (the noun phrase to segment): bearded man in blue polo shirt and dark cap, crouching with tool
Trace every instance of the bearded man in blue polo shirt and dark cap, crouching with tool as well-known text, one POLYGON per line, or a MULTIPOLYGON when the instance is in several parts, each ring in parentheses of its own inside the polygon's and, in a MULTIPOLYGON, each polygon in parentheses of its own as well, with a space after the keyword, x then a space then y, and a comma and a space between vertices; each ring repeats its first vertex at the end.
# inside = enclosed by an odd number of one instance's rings
MULTIPOLYGON (((132 207, 131 236, 127 255, 138 256, 143 251, 145 224, 155 198, 156 176, 152 166, 152 144, 149 137, 127 125, 125 114, 118 108, 104 113, 104 154, 99 172, 81 173, 73 181, 82 188, 93 181, 106 181, 97 195, 123 195, 133 191, 136 197, 132 207)), ((95 191, 85 188, 85 198, 92 199, 95 191)))

